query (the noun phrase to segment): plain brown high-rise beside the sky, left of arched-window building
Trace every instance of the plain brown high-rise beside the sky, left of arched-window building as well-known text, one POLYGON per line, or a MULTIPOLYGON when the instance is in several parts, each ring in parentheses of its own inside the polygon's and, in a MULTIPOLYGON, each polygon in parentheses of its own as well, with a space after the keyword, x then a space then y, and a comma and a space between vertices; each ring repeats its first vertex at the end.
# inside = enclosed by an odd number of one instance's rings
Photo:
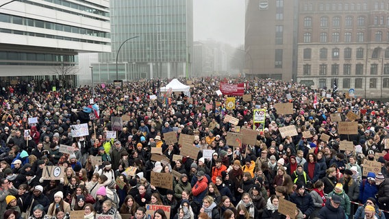
POLYGON ((246 77, 290 81, 297 75, 297 0, 246 2, 246 77))

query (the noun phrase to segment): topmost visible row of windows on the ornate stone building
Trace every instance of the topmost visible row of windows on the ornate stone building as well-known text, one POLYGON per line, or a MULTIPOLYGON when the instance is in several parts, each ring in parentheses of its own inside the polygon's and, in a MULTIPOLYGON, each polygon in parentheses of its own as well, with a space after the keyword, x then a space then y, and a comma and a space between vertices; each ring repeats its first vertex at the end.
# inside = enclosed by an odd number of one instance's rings
MULTIPOLYGON (((304 11, 314 11, 316 8, 313 3, 304 3, 303 5, 304 11)), ((319 11, 367 11, 368 4, 367 3, 319 3, 318 4, 319 11)), ((389 10, 389 4, 386 2, 376 1, 374 3, 374 10, 389 10)))

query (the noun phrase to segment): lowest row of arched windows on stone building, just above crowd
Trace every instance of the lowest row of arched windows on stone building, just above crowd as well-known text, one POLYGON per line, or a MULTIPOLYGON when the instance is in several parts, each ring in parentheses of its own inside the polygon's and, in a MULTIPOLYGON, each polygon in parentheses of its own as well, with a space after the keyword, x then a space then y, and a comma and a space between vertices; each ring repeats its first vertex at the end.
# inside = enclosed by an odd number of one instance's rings
MULTIPOLYGON (((331 83, 329 83, 331 86, 334 84, 335 79, 331 79, 331 83)), ((362 89, 363 86, 363 78, 355 78, 354 79, 354 86, 352 88, 356 89, 362 89)), ((378 86, 378 79, 377 78, 371 78, 368 81, 368 88, 377 88, 378 86)), ((340 83, 338 83, 338 86, 340 87, 340 83)), ((328 88, 327 86, 327 79, 321 78, 318 79, 318 87, 319 88, 328 88)), ((343 89, 350 89, 351 88, 351 79, 350 78, 344 78, 342 79, 342 87, 343 89)), ((389 78, 383 78, 382 79, 382 88, 389 88, 389 78)))

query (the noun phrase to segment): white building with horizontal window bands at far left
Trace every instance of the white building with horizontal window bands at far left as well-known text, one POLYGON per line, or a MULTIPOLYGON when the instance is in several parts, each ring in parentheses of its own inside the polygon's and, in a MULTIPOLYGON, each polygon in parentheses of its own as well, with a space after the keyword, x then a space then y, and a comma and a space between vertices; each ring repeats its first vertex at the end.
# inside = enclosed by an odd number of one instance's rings
POLYGON ((59 78, 68 66, 61 77, 76 83, 78 53, 111 51, 109 0, 9 2, 0 8, 3 86, 59 78))

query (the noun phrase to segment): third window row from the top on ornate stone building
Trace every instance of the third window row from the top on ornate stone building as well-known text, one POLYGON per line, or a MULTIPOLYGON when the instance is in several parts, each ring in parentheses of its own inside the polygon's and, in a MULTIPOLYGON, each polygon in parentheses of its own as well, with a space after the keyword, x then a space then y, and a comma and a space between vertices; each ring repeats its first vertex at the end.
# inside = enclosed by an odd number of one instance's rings
MULTIPOLYGON (((383 41, 383 32, 382 31, 376 31, 374 35, 374 41, 375 42, 382 42, 383 41)), ((320 42, 328 42, 328 34, 326 32, 320 33, 320 42)), ((344 33, 344 38, 342 42, 364 42, 365 40, 365 34, 364 32, 357 32, 357 37, 355 40, 353 40, 353 35, 351 32, 344 33)), ((386 34, 386 41, 389 42, 389 32, 386 34)), ((305 32, 303 34, 303 42, 309 43, 312 42, 312 33, 305 32)), ((340 33, 334 32, 331 34, 331 42, 340 42, 340 33)))

